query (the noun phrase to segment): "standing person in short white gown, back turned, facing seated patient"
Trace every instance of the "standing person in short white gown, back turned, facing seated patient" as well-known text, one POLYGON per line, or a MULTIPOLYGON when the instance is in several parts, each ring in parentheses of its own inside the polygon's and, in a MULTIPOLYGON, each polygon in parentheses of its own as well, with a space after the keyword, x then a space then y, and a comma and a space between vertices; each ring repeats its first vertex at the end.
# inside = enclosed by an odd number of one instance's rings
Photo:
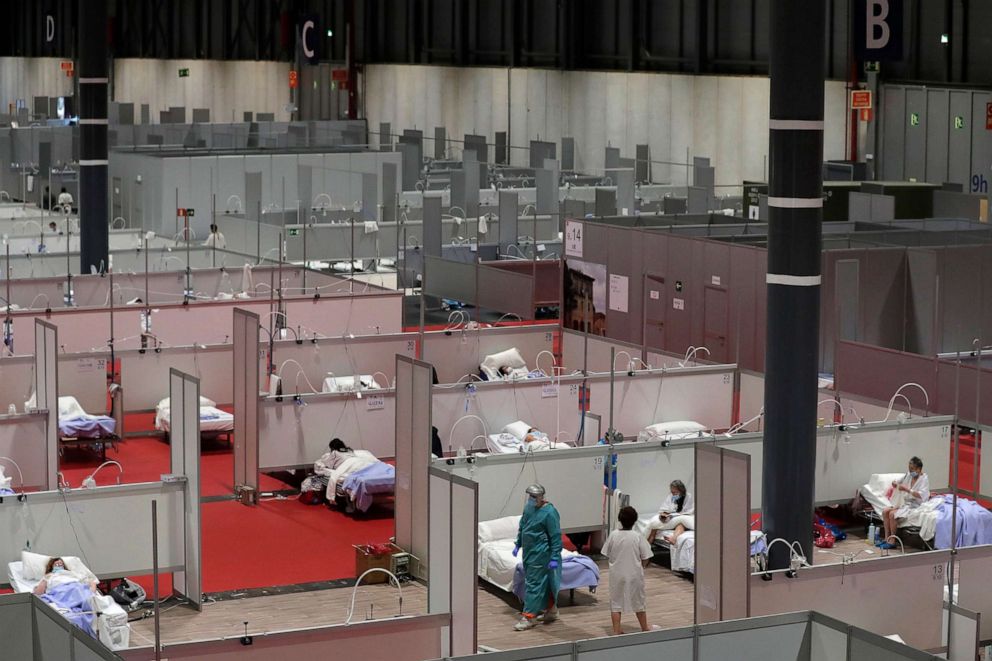
POLYGON ((633 613, 641 631, 648 631, 648 616, 644 607, 644 568, 651 560, 651 546, 644 536, 634 530, 637 510, 624 507, 617 517, 622 530, 610 534, 603 546, 603 555, 610 561, 610 617, 613 634, 623 633, 620 616, 633 613))

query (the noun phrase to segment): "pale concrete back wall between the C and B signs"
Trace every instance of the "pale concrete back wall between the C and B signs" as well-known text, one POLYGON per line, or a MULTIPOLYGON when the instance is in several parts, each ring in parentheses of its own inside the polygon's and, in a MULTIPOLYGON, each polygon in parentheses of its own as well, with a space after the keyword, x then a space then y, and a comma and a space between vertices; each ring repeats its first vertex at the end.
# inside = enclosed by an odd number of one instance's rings
MULTIPOLYGON (((373 131, 390 122, 394 133, 418 128, 430 138, 444 126, 449 138, 477 133, 493 142, 509 126, 514 147, 571 136, 576 168, 592 173, 602 171, 607 145, 633 158, 635 145, 647 142, 656 161, 685 163, 687 150, 690 158, 709 156, 718 185, 764 178, 763 77, 375 65, 366 67, 365 81, 373 131)), ((828 82, 824 158, 844 157, 845 106, 844 84, 828 82)), ((527 164, 522 149, 512 157, 527 164)), ((685 168, 655 165, 653 178, 685 183, 685 168)))

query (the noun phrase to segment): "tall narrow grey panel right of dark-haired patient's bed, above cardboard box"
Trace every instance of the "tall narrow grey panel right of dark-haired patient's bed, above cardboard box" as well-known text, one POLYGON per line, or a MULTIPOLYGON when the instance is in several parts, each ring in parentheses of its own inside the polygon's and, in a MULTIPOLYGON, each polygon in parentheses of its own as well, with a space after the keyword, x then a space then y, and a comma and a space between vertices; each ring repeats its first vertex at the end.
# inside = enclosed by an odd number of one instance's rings
POLYGON ((433 376, 430 363, 396 356, 396 545, 413 554, 420 578, 427 576, 428 566, 433 376))

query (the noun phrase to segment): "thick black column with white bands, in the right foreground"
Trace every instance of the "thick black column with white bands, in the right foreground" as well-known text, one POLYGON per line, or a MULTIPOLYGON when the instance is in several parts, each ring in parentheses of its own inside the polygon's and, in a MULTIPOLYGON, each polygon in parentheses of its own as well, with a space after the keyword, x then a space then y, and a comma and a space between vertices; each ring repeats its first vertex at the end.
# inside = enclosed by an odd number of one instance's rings
MULTIPOLYGON (((825 0, 772 0, 763 525, 812 559, 825 0)), ((775 544, 773 569, 788 565, 775 544)))

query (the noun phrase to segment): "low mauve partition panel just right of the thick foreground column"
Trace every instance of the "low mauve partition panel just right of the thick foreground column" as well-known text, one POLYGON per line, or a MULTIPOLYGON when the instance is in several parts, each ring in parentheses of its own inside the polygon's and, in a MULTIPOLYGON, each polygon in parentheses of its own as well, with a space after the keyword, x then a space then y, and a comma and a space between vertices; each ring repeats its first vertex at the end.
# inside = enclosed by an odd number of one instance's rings
MULTIPOLYGON (((937 366, 933 358, 859 342, 837 344, 834 380, 839 392, 883 402, 889 401, 903 384, 919 383, 930 394, 931 412, 937 399, 937 366)), ((914 409, 923 408, 919 391, 906 395, 914 409)))

